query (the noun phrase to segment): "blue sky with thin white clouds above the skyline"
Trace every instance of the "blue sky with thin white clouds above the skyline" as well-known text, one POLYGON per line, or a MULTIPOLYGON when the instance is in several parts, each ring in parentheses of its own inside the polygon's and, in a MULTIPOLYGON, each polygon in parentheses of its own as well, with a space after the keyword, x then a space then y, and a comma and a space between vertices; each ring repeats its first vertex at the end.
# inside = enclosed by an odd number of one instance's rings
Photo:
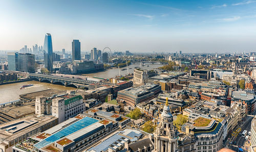
POLYGON ((0 0, 0 50, 233 53, 256 51, 256 0, 0 0))

